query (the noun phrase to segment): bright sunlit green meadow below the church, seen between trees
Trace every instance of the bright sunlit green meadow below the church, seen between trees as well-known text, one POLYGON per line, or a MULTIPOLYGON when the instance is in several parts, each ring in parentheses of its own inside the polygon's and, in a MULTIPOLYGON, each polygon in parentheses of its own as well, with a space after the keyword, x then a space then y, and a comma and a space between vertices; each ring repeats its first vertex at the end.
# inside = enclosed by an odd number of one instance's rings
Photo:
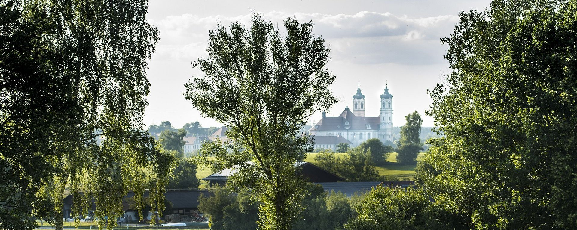
MULTIPOLYGON (((314 162, 314 156, 316 156, 316 155, 317 154, 315 154, 315 153, 308 154, 305 158, 305 162, 310 162, 313 164, 316 163, 316 162, 314 162)), ((347 154, 338 153, 336 155, 346 156, 347 154)), ((414 170, 415 170, 416 165, 415 164, 412 164, 412 165, 396 164, 396 155, 397 155, 396 152, 389 154, 389 157, 387 158, 387 161, 389 163, 377 166, 377 171, 379 171, 379 175, 396 177, 399 180, 413 179, 413 175, 415 174, 414 170)), ((422 156, 422 153, 419 155, 419 158, 421 158, 421 156, 422 156)), ((212 172, 211 172, 210 168, 200 166, 197 169, 196 177, 198 179, 203 179, 205 177, 208 177, 211 174, 212 174, 212 172)), ((208 183, 205 181, 201 181, 200 187, 206 188, 206 187, 208 187, 208 183)))

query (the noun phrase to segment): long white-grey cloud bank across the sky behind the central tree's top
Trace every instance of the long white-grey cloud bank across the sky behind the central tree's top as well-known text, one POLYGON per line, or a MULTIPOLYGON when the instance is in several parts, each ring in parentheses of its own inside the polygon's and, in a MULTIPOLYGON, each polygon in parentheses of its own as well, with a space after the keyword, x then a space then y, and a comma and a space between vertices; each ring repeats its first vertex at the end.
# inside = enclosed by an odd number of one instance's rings
MULTIPOLYGON (((331 45, 333 60, 371 64, 442 62, 444 48, 439 39, 451 34, 459 19, 451 15, 409 18, 370 11, 336 15, 271 11, 263 15, 281 28, 281 32, 287 17, 313 21, 314 34, 323 36, 331 45)), ((251 14, 235 17, 182 14, 151 21, 160 29, 158 55, 189 61, 206 56, 208 31, 215 28, 217 22, 223 26, 235 21, 249 24, 250 17, 251 14)))

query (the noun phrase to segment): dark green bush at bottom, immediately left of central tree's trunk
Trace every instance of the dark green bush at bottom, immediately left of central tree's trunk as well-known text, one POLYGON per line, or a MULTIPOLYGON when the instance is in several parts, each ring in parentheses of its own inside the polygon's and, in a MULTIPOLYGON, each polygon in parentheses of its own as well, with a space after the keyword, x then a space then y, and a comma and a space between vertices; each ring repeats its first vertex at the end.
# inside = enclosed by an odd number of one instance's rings
POLYGON ((211 229, 256 229, 258 204, 247 190, 231 193, 226 187, 213 187, 211 196, 198 198, 198 210, 210 217, 211 229))

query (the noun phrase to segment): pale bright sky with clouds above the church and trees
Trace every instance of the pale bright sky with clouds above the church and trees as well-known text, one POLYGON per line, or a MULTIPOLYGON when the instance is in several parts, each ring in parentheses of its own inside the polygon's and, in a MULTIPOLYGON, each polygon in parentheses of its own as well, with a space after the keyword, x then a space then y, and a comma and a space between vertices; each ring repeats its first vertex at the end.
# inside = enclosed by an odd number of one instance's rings
MULTIPOLYGON (((170 121, 181 128, 198 121, 203 127, 221 126, 184 99, 184 83, 202 75, 191 63, 208 56, 208 32, 217 22, 249 25, 250 16, 259 12, 280 31, 287 17, 314 23, 313 33, 331 49, 327 68, 336 75, 331 89, 340 99, 327 116, 338 116, 352 104, 358 84, 366 96, 366 116, 379 116, 379 96, 387 82, 394 96, 393 125, 404 125, 404 116, 416 110, 423 126, 431 127, 433 118, 425 115, 432 103, 427 90, 443 83, 451 72, 443 58, 447 45, 440 39, 451 35, 460 11, 484 10, 489 4, 488 0, 151 0, 147 19, 160 30, 160 42, 148 61, 151 93, 144 123, 170 121)), ((310 122, 321 117, 314 114, 310 122)))

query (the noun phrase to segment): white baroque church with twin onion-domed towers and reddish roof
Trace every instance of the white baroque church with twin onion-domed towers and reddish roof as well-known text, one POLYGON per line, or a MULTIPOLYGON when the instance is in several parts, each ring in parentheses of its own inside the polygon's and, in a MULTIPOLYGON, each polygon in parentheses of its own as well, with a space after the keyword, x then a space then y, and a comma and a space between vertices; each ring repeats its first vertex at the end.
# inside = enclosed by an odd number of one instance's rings
MULTIPOLYGON (((377 117, 365 116, 365 95, 361 93, 361 86, 358 86, 357 94, 353 95, 353 111, 347 105, 338 117, 327 117, 323 112, 323 118, 316 125, 309 129, 309 134, 315 137, 335 136, 340 141, 357 147, 362 142, 378 138, 383 143, 393 141, 393 95, 389 94, 389 89, 385 83, 385 91, 381 94, 381 110, 377 117), (350 142, 350 143, 349 143, 350 142)), ((326 138, 315 138, 326 139, 326 138)), ((324 143, 317 143, 315 147, 323 147, 324 143)), ((333 145, 334 146, 334 145, 333 145)), ((331 146, 332 147, 332 146, 331 146)))

